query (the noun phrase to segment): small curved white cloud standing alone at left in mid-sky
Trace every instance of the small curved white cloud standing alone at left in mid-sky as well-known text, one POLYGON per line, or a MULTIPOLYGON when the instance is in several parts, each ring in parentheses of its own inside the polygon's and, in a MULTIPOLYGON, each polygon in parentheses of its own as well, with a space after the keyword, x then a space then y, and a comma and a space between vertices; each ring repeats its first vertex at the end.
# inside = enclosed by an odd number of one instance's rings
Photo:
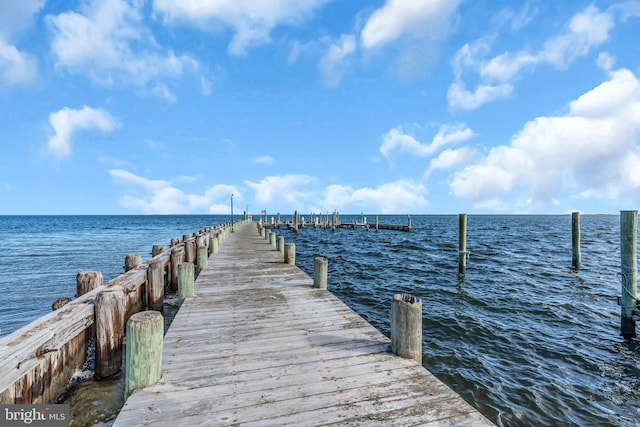
POLYGON ((54 135, 47 143, 47 153, 56 159, 64 159, 71 155, 71 138, 74 133, 90 129, 112 132, 118 127, 117 120, 108 112, 87 106, 80 110, 65 107, 51 113, 49 124, 54 135))

